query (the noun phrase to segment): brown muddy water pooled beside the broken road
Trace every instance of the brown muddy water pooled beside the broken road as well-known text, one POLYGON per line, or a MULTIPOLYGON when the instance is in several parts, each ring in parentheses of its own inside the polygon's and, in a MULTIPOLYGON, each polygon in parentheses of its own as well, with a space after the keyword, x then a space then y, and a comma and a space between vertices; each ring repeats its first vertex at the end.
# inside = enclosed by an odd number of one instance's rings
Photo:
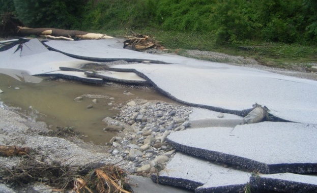
POLYGON ((96 144, 108 142, 115 133, 103 132, 102 119, 118 113, 113 104, 136 98, 174 102, 149 87, 122 85, 89 85, 65 80, 46 79, 40 83, 25 83, 0 74, 0 101, 11 107, 20 107, 30 119, 44 121, 52 129, 73 126, 85 141, 96 144), (131 93, 131 94, 130 94, 131 93), (81 102, 76 97, 83 96, 81 102), (92 100, 97 99, 95 104, 92 100), (87 109, 87 106, 93 108, 87 109))

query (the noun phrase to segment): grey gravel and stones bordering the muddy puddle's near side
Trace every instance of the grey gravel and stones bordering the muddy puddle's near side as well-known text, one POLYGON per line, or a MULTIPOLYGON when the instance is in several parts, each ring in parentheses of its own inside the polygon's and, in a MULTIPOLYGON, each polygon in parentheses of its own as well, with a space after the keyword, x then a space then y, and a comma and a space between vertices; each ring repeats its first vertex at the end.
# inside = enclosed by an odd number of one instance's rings
MULTIPOLYGON (((76 136, 49 137, 50 130, 45 122, 34 121, 17 114, 15 108, 0 104, 0 145, 29 147, 36 151, 38 160, 47 163, 113 164, 130 174, 142 176, 164 169, 175 152, 165 139, 169 133, 190 126, 188 116, 192 108, 140 99, 118 108, 121 112, 118 116, 103 120, 108 124, 106 128, 114 128, 118 136, 100 146, 83 142, 76 136)), ((14 167, 22 160, 20 156, 0 156, 0 168, 14 167)), ((30 188, 35 189, 31 185, 27 191, 30 188)))

